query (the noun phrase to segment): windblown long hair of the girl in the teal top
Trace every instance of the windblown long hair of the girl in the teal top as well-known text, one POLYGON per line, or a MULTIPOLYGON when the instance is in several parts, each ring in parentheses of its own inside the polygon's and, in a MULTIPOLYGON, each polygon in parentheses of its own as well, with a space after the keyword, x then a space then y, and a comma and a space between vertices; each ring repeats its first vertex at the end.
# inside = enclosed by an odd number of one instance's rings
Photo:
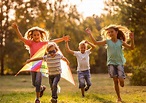
POLYGON ((101 36, 103 39, 108 39, 107 30, 109 29, 114 29, 115 31, 118 31, 117 38, 123 41, 126 41, 128 39, 128 34, 131 32, 125 26, 111 24, 109 26, 104 27, 101 30, 101 36))

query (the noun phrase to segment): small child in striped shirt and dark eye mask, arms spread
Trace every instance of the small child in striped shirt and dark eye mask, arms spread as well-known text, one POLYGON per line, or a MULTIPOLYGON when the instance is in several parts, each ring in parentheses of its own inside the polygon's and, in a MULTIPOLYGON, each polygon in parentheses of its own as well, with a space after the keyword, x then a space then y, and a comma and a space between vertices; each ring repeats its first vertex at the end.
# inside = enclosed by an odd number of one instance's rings
POLYGON ((49 73, 49 84, 52 91, 52 103, 57 103, 57 84, 60 81, 61 78, 61 63, 60 60, 64 60, 67 62, 67 65, 69 65, 69 61, 62 55, 60 55, 58 51, 58 46, 55 43, 48 43, 47 46, 47 55, 44 57, 38 57, 34 59, 29 59, 27 63, 37 60, 44 60, 47 62, 48 66, 48 73, 49 73))

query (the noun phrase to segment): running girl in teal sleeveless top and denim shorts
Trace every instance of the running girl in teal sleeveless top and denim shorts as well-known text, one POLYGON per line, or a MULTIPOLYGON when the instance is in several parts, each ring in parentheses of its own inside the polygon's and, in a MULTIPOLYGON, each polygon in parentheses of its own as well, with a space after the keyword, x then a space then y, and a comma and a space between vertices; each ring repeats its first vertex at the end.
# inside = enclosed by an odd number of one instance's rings
POLYGON ((124 64, 126 62, 123 55, 123 48, 134 49, 134 33, 128 30, 125 26, 121 25, 109 25, 101 30, 101 34, 104 38, 102 41, 96 41, 89 28, 86 29, 89 37, 95 45, 105 45, 107 44, 107 66, 108 72, 111 78, 113 78, 115 91, 117 94, 117 102, 122 102, 120 96, 120 88, 124 87, 124 64), (126 34, 129 34, 131 44, 126 43, 126 34))

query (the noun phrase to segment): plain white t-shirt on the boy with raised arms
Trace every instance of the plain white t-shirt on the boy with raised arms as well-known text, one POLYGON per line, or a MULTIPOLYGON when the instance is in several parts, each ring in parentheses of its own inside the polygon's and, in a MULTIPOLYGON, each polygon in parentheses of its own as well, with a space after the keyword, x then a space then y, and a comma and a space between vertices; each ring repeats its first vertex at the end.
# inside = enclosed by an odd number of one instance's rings
POLYGON ((86 50, 84 54, 80 51, 74 51, 74 56, 77 58, 77 71, 85 71, 90 69, 89 54, 90 50, 86 50))

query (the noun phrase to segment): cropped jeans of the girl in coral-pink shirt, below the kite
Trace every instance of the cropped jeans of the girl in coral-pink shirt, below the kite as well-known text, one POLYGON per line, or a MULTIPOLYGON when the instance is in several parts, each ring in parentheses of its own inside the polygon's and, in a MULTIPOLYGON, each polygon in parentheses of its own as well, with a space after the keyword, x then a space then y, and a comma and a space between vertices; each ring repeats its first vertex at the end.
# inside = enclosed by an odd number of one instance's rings
POLYGON ((40 92, 42 73, 41 72, 31 72, 32 85, 36 88, 36 92, 40 92))

